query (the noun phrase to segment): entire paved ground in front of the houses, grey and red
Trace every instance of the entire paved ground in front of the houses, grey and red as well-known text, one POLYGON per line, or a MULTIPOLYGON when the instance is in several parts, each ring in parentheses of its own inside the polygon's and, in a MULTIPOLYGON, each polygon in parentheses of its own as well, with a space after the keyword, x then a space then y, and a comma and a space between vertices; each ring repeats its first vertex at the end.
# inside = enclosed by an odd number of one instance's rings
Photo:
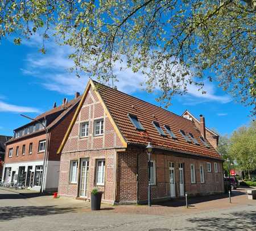
POLYGON ((90 211, 90 203, 52 196, 26 198, 0 190, 2 231, 229 231, 255 230, 256 200, 248 200, 245 188, 233 192, 232 204, 216 195, 184 202, 152 205, 108 205, 90 211), (15 199, 15 200, 14 200, 15 199))

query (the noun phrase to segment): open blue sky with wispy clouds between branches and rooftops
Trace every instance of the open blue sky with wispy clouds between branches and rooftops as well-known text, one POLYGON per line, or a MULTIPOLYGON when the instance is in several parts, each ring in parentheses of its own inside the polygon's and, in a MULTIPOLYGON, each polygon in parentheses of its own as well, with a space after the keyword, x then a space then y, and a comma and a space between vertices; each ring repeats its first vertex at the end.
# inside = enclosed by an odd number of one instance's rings
MULTIPOLYGON (((68 68, 72 61, 67 56, 68 47, 60 47, 52 41, 46 44, 47 54, 39 53, 40 37, 34 37, 23 45, 2 40, 0 44, 0 134, 13 135, 13 129, 27 123, 19 114, 35 117, 52 108, 54 102, 61 104, 64 97, 72 99, 75 91, 82 91, 88 77, 75 77, 68 68)), ((117 87, 147 102, 157 104, 156 94, 148 94, 139 82, 144 77, 131 70, 119 72, 117 87)), ((193 115, 205 116, 207 127, 215 128, 221 134, 232 133, 242 125, 250 123, 250 108, 234 102, 231 96, 217 87, 206 84, 206 95, 190 87, 185 96, 175 96, 168 110, 181 115, 186 109, 193 115)))

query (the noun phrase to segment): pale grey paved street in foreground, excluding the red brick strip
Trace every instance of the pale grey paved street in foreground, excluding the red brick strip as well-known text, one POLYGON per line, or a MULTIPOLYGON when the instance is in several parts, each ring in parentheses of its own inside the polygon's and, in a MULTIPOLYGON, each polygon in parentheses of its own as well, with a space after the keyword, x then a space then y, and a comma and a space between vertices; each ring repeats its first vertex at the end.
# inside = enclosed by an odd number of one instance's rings
POLYGON ((53 200, 49 196, 25 198, 0 190, 0 230, 247 231, 255 230, 256 224, 255 203, 169 216, 116 213, 111 209, 90 211, 82 207, 84 204, 81 201, 73 199, 53 200))

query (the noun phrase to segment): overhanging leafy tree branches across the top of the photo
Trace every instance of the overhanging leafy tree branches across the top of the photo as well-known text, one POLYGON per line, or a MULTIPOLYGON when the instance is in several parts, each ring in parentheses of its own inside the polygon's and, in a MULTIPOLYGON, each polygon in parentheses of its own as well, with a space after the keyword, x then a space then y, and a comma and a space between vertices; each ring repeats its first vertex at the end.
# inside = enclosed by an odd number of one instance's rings
POLYGON ((14 43, 43 31, 44 40, 70 45, 77 75, 108 82, 114 68, 145 76, 159 100, 205 81, 218 82, 242 103, 254 106, 255 0, 2 0, 0 39, 14 43), (119 65, 120 66, 120 65, 119 65))

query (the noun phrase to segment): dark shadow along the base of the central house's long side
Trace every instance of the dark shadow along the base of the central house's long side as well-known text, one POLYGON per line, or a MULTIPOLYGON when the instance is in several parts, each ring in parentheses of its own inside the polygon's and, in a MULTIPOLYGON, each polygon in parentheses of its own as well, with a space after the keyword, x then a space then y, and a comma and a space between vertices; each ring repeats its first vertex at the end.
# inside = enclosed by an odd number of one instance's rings
MULTIPOLYGON (((232 197, 234 196, 241 196, 245 195, 245 191, 237 191, 234 190, 232 191, 232 197)), ((228 194, 217 194, 217 195, 209 195, 209 196, 195 196, 195 197, 189 197, 188 196, 188 204, 197 204, 197 203, 202 203, 206 201, 211 201, 211 200, 219 200, 219 199, 224 199, 228 198, 228 194)), ((166 207, 181 207, 185 206, 185 198, 184 199, 174 199, 174 200, 168 200, 168 201, 163 201, 159 203, 153 203, 154 205, 159 205, 159 206, 166 206, 166 207)))

